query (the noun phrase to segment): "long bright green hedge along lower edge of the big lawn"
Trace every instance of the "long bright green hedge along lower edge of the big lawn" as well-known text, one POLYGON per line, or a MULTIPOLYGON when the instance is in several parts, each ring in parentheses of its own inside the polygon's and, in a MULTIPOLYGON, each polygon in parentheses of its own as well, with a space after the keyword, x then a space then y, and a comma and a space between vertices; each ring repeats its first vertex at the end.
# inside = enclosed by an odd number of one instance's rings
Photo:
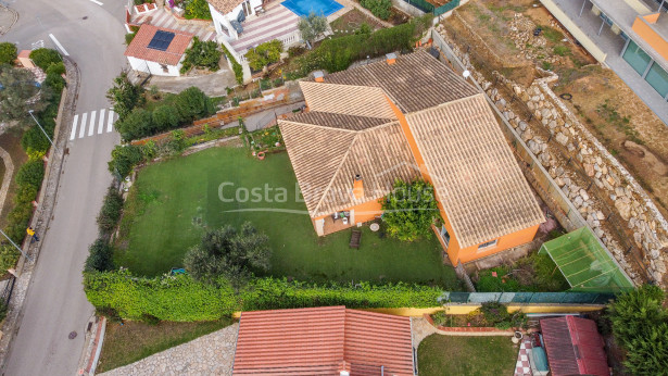
POLYGON ((436 287, 406 284, 373 286, 314 285, 260 278, 235 294, 225 280, 219 287, 197 283, 189 275, 135 277, 127 270, 85 273, 88 300, 98 309, 113 309, 123 317, 151 315, 163 321, 217 319, 235 311, 294 309, 323 305, 348 308, 429 308, 439 305, 436 287))

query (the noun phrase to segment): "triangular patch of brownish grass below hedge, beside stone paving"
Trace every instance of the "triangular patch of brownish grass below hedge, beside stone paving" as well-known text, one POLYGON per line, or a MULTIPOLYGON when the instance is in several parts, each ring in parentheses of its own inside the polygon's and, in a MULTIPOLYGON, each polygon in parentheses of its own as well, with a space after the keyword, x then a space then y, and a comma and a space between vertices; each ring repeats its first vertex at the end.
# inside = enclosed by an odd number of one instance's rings
POLYGON ((157 325, 141 322, 125 322, 121 325, 108 322, 97 372, 102 373, 135 363, 230 324, 232 322, 229 318, 200 323, 161 322, 157 325))

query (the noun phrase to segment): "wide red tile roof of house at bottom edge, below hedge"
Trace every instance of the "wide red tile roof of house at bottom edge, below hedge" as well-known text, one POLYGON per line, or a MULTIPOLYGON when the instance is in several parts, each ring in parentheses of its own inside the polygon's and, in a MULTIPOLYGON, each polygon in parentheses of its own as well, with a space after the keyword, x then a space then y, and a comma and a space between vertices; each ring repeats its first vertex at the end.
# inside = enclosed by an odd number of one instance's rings
POLYGON ((411 317, 345 306, 243 312, 232 375, 415 375, 411 317))

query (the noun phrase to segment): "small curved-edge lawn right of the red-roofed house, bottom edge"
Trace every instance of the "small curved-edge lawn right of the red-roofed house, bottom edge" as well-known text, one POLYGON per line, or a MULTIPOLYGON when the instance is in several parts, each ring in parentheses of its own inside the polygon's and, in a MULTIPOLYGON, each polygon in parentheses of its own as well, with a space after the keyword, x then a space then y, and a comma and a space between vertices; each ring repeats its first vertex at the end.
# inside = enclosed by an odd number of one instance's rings
POLYGON ((431 335, 417 349, 420 376, 513 375, 518 348, 509 337, 431 335))

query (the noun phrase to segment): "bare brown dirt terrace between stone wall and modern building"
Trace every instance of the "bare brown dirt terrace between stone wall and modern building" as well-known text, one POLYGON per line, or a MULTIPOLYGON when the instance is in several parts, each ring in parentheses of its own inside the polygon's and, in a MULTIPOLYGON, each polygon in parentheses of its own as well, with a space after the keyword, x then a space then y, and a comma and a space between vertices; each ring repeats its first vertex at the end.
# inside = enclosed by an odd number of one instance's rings
POLYGON ((527 87, 539 76, 537 66, 555 72, 555 93, 571 96, 566 105, 668 215, 668 127, 614 72, 576 45, 544 7, 533 4, 471 0, 443 26, 489 80, 499 71, 527 87))

